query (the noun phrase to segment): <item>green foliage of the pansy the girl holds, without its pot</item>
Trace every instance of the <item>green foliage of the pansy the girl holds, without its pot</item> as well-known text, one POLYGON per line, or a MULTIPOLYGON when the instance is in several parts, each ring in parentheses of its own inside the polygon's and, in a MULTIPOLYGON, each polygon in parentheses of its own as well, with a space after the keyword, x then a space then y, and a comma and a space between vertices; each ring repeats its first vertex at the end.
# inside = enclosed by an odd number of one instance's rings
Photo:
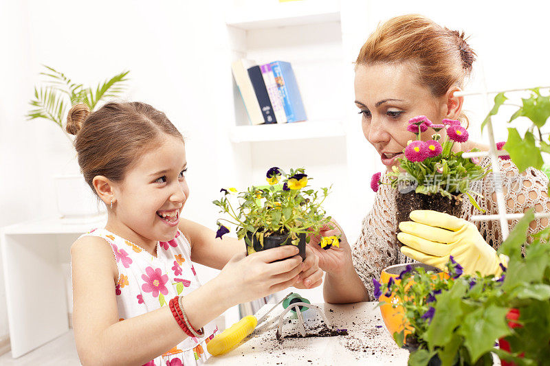
MULTIPOLYGON (((329 194, 329 188, 323 187, 320 192, 308 188, 309 185, 298 189, 287 188, 289 180, 295 174, 305 174, 305 170, 291 169, 289 174, 278 170, 281 174, 272 185, 252 186, 240 193, 234 189, 222 190, 222 198, 213 203, 221 208, 221 213, 228 214, 230 218, 220 218, 218 225, 221 226, 221 222, 235 225, 238 238, 245 238, 247 244, 250 244, 247 233, 257 234, 260 242, 263 242, 264 236, 272 233, 289 233, 290 239, 296 240, 298 234, 318 233, 323 225, 328 224, 331 217, 326 216, 322 203, 329 194), (286 190, 283 189, 283 185, 286 190), (234 195, 239 201, 236 207, 231 203, 234 201, 234 195)), ((307 181, 309 180, 311 178, 307 177, 307 181)))

